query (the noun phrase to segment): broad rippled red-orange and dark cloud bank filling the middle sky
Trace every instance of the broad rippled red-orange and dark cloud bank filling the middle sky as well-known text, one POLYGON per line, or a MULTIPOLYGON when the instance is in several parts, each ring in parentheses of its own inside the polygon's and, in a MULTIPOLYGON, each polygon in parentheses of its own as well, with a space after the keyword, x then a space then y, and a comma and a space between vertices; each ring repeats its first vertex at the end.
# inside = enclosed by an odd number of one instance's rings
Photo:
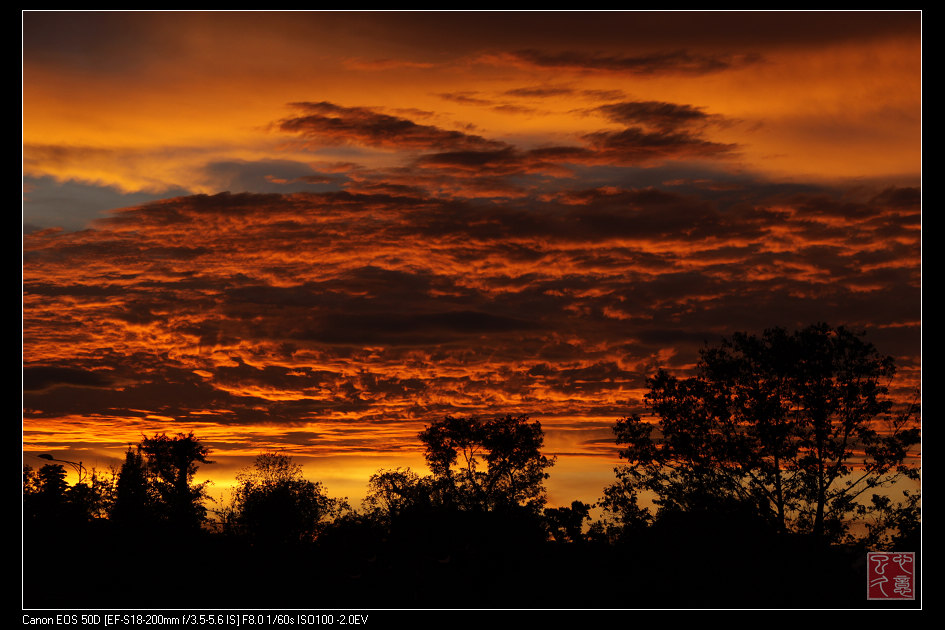
POLYGON ((444 413, 611 422, 732 330, 827 320, 915 356, 918 191, 762 184, 195 195, 27 235, 24 415, 399 452, 444 413))

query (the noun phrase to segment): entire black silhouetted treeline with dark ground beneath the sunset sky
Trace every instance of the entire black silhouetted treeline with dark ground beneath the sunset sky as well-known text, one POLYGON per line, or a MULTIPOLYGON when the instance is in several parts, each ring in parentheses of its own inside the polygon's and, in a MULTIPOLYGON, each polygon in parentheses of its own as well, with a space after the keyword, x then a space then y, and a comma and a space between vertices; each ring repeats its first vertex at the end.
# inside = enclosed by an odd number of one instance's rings
MULTIPOLYGON (((825 325, 736 334, 695 376, 659 372, 655 418, 617 421, 624 465, 595 505, 547 504, 527 416, 447 416, 429 474, 379 470, 359 506, 260 454, 224 505, 193 434, 145 437, 111 474, 25 467, 27 608, 845 608, 866 550, 920 549, 893 363, 825 325), (593 515, 593 516, 592 516, 593 515)), ((65 462, 69 463, 69 462, 65 462)))

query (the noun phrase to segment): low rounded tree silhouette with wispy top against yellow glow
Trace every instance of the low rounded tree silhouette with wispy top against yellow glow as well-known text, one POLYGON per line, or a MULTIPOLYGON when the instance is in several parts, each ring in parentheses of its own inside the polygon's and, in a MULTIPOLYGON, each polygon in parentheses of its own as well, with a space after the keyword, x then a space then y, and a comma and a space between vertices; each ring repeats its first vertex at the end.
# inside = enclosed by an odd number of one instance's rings
POLYGON ((310 541, 322 521, 343 507, 325 494, 321 482, 305 479, 302 467, 281 453, 258 455, 236 479, 229 520, 258 541, 310 541))

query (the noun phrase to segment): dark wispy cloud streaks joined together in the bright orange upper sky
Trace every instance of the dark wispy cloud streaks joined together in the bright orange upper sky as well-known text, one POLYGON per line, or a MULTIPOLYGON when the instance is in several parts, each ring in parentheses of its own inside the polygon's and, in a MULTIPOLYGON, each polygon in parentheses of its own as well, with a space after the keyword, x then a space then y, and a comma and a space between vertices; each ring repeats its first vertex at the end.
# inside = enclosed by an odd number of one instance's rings
MULTIPOLYGON (((494 101, 468 94, 441 96, 497 106, 494 101)), ((406 153, 398 166, 348 169, 341 185, 358 193, 516 199, 539 189, 570 188, 578 166, 652 168, 668 162, 731 159, 738 154, 736 145, 704 137, 703 128, 720 122, 719 117, 668 102, 624 101, 600 106, 592 111, 627 126, 577 135, 573 144, 527 149, 364 108, 330 103, 300 107, 315 113, 283 120, 279 123, 282 131, 323 142, 396 148, 406 153)))

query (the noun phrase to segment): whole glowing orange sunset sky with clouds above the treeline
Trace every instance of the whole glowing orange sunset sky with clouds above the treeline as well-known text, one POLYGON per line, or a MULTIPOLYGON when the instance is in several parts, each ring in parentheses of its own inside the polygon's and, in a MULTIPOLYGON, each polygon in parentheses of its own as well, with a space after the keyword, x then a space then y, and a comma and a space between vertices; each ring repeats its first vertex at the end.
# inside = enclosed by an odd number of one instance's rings
POLYGON ((23 451, 193 431, 334 496, 445 415, 593 502, 736 331, 921 375, 921 13, 22 13, 23 451))

